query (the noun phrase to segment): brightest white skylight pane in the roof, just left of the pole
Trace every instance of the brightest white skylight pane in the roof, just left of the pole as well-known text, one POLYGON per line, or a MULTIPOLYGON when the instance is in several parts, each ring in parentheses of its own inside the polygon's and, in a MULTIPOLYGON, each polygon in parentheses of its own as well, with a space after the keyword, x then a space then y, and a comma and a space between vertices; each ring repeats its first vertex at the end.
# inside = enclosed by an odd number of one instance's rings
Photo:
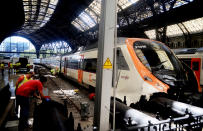
POLYGON ((79 18, 86 24, 88 25, 90 28, 95 26, 95 22, 92 20, 92 18, 90 18, 89 15, 87 15, 87 13, 85 12, 82 12, 80 15, 79 15, 79 18))

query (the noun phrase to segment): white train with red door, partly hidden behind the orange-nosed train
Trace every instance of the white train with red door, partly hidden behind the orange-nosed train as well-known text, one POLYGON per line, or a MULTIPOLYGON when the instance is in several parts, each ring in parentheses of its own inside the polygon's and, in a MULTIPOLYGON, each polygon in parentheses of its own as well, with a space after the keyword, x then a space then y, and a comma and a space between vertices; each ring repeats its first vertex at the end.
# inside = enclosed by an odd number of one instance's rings
MULTIPOLYGON (((176 56, 194 70, 200 86, 203 87, 203 48, 188 48, 184 51, 177 50, 176 56)), ((199 92, 202 92, 202 88, 199 88, 198 90, 199 92)))

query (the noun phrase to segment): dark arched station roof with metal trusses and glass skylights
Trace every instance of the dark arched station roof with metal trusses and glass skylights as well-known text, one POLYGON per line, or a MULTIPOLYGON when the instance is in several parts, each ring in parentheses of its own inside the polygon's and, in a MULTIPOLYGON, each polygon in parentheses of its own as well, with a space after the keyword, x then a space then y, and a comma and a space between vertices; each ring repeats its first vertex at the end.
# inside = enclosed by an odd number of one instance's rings
MULTIPOLYGON (((3 0, 1 6, 9 12, 0 14, 6 18, 0 30, 7 25, 0 41, 19 35, 39 50, 57 40, 76 48, 98 38, 101 0, 3 0)), ((202 0, 118 0, 117 6, 118 36, 153 38, 153 28, 164 25, 168 36, 202 32, 202 0)))

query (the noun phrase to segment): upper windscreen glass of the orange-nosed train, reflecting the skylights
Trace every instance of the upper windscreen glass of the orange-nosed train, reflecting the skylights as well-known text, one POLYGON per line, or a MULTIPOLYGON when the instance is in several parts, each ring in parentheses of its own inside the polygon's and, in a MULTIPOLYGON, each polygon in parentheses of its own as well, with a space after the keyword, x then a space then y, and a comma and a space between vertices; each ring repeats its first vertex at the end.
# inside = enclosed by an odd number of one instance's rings
POLYGON ((150 71, 166 69, 174 70, 174 65, 170 59, 170 55, 166 50, 153 41, 136 41, 134 43, 134 50, 142 64, 150 71))

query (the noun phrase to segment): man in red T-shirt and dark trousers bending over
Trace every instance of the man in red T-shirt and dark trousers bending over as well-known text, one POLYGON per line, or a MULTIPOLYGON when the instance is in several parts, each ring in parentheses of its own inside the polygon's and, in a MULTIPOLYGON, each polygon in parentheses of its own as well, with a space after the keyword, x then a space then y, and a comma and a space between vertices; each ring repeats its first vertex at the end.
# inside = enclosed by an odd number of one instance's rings
POLYGON ((29 80, 22 84, 16 90, 16 100, 19 103, 20 110, 20 119, 18 130, 23 131, 28 127, 28 117, 29 117, 29 97, 36 96, 37 98, 44 98, 44 94, 42 92, 43 84, 47 81, 47 78, 41 76, 39 80, 29 80), (39 93, 39 96, 36 95, 36 92, 39 93))

